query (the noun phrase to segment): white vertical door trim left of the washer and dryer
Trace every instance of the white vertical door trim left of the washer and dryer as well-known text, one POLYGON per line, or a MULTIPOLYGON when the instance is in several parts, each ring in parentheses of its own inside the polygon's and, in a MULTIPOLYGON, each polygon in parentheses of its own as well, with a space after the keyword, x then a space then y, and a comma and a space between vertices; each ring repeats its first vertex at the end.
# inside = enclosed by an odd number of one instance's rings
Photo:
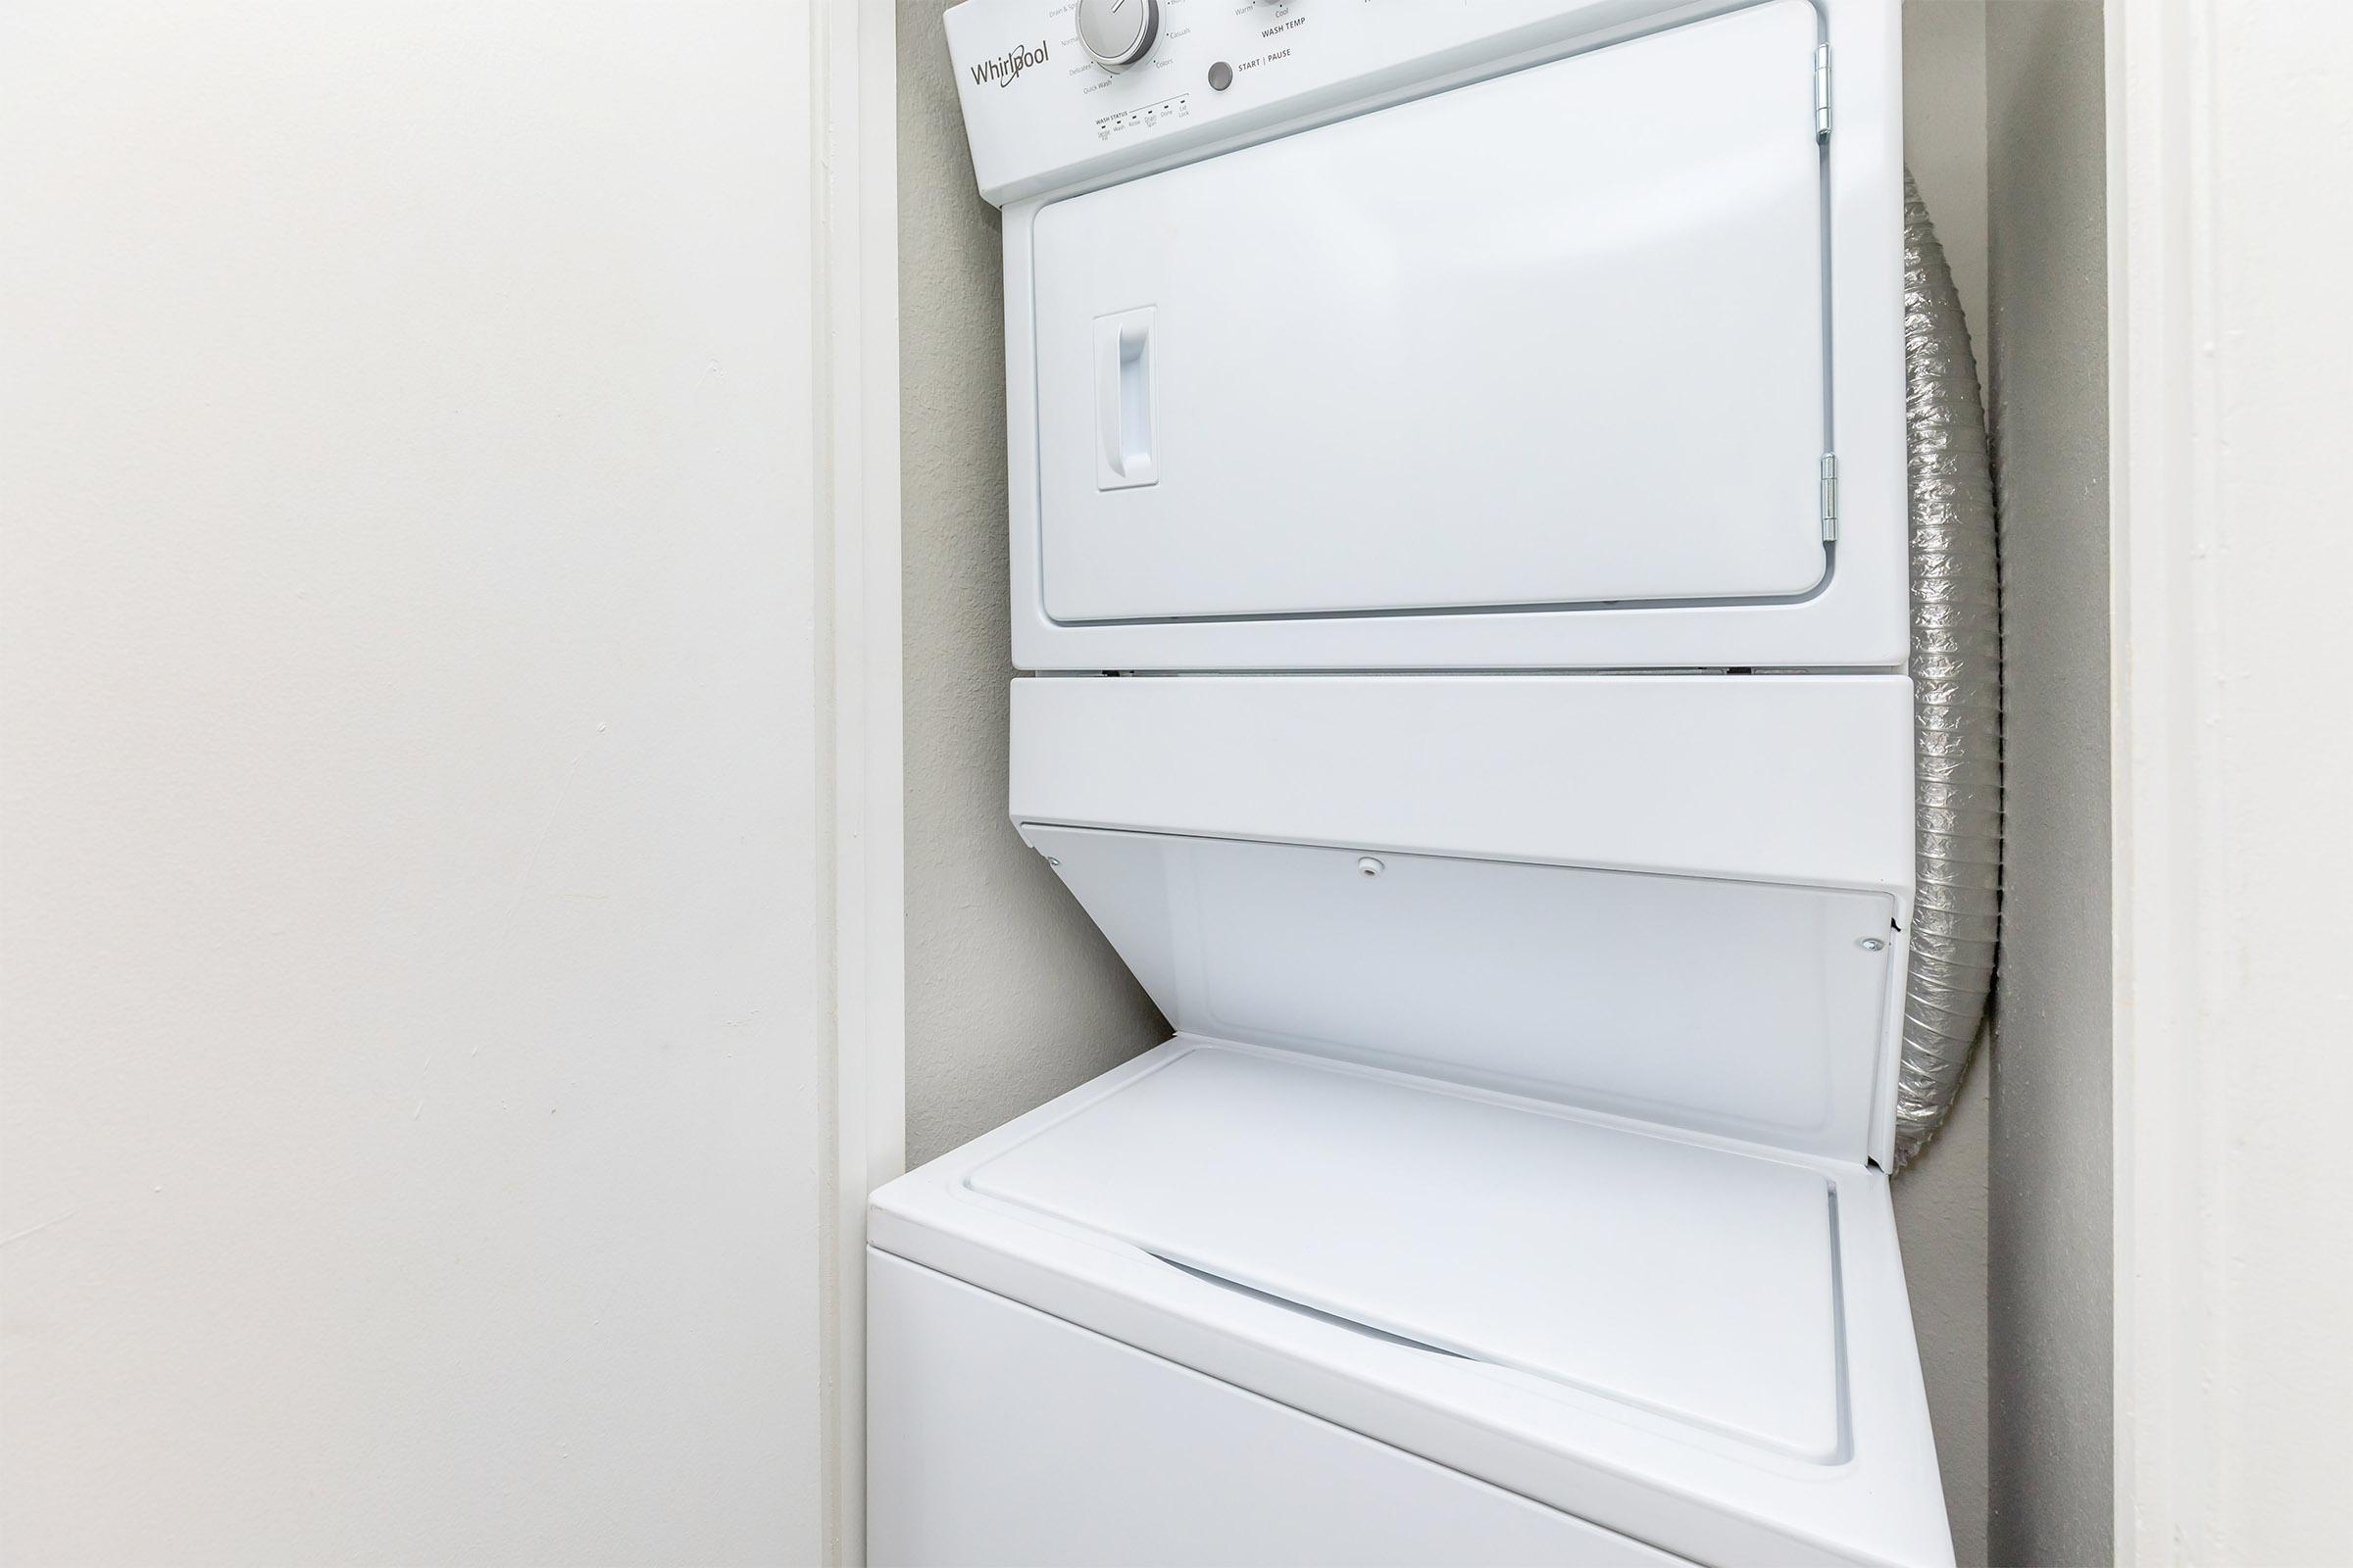
MULTIPOLYGON (((835 1147, 826 1215, 826 1561, 866 1561, 866 1194, 906 1166, 894 9, 809 7, 816 456, 831 527, 835 1147)), ((831 569, 828 569, 831 567, 831 569)))

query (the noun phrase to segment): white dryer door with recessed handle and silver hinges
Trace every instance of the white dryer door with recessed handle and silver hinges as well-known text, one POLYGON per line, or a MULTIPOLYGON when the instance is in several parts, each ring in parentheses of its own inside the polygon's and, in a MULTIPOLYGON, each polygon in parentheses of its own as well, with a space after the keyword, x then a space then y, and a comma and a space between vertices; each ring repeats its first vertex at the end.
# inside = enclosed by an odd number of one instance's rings
POLYGON ((1042 207, 1047 616, 1812 590, 1814 45, 1769 0, 1042 207))

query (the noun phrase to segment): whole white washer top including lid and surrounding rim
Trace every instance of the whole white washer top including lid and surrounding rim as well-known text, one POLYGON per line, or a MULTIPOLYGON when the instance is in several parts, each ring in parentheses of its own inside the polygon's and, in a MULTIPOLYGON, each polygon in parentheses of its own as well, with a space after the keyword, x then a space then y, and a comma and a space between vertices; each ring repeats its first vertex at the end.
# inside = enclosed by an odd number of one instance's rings
POLYGON ((868 1241, 1692 1561, 1953 1561, 1868 1164, 1179 1034, 868 1241))

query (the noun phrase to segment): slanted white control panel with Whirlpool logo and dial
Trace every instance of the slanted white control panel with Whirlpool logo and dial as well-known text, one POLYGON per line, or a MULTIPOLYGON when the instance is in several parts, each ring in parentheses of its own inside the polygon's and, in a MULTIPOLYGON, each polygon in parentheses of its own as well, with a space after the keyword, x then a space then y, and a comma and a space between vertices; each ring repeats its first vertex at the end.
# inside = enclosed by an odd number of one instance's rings
POLYGON ((965 0, 981 195, 1016 202, 1753 0, 965 0))

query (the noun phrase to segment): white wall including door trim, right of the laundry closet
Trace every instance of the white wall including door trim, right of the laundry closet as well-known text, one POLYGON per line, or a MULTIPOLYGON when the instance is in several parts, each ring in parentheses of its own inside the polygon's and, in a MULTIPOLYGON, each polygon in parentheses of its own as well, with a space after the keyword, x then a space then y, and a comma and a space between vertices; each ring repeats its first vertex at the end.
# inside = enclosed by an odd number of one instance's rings
POLYGON ((2353 1561, 2353 7, 2111 7, 2118 1549, 2353 1561))

